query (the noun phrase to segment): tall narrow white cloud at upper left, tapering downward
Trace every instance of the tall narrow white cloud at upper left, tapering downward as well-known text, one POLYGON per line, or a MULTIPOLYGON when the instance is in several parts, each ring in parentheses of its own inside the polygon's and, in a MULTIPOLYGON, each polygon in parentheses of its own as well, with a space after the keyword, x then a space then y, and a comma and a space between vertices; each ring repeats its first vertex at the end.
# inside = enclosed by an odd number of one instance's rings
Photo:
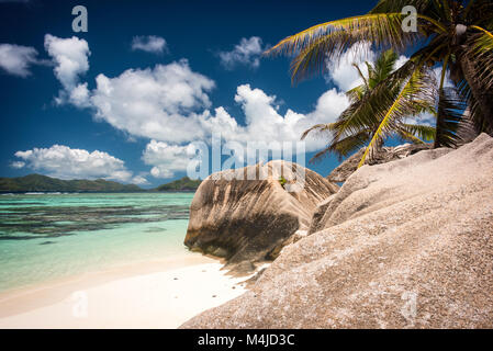
POLYGON ((79 80, 89 70, 88 57, 91 52, 88 42, 77 36, 59 38, 46 34, 45 49, 55 63, 55 76, 64 88, 56 102, 64 103, 68 99, 78 106, 86 106, 88 101, 81 99, 87 84, 79 84, 79 80))

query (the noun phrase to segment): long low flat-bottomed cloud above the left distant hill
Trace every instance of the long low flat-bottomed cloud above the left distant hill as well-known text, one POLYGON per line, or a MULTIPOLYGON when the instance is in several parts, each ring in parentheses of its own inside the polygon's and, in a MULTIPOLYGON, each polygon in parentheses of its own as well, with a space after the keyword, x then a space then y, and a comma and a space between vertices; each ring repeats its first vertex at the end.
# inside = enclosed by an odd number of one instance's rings
POLYGON ((47 172, 48 176, 60 179, 98 179, 122 182, 137 181, 143 183, 143 177, 133 179, 133 173, 125 163, 108 152, 83 149, 71 149, 64 145, 53 145, 49 148, 34 148, 16 151, 15 157, 22 161, 12 163, 14 168, 30 168, 47 172))

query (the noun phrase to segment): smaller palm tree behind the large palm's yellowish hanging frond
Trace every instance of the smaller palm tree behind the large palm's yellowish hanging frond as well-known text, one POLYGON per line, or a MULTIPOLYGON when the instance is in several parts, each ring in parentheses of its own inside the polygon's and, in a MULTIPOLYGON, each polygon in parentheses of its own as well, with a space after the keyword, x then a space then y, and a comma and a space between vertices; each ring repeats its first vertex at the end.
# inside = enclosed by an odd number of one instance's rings
POLYGON ((418 115, 424 112, 435 113, 435 80, 429 75, 421 73, 413 77, 410 88, 401 97, 399 97, 401 87, 406 82, 405 80, 393 84, 393 88, 382 89, 380 94, 372 94, 374 89, 394 71, 397 58, 399 55, 389 49, 383 52, 374 64, 365 63, 368 69, 368 77, 362 73, 358 65, 352 64, 362 83, 346 92, 350 101, 349 107, 343 112, 335 123, 314 125, 305 131, 302 136, 302 139, 304 139, 312 133, 324 136, 328 134, 328 138, 332 140, 325 149, 313 157, 312 161, 318 160, 329 152, 337 154, 339 158, 345 157, 355 149, 367 145, 378 135, 374 148, 368 147, 361 161, 365 162, 367 155, 371 159, 373 151, 383 146, 384 135, 379 133, 382 118, 384 117, 383 113, 389 111, 390 105, 397 98, 401 99, 401 110, 399 111, 399 117, 395 116, 392 121, 392 134, 415 144, 424 144, 421 138, 425 140, 434 138, 434 127, 406 123, 407 116, 418 115))

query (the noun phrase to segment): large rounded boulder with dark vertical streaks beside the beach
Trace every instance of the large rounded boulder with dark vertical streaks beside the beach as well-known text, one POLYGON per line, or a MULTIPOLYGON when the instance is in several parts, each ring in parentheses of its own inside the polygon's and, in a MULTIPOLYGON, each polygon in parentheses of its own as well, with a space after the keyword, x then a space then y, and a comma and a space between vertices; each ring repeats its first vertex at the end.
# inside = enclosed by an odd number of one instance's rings
POLYGON ((184 244, 229 263, 274 258, 296 230, 309 229, 316 204, 337 190, 284 161, 214 173, 193 197, 184 244))

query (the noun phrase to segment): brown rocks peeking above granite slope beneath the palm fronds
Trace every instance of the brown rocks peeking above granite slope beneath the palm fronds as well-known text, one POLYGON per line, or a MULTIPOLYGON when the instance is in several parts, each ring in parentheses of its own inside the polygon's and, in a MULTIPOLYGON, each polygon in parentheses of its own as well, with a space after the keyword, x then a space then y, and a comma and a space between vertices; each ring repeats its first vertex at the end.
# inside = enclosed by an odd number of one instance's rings
MULTIPOLYGON (((371 160, 367 158, 365 165, 381 165, 390 161, 406 158, 422 150, 428 150, 432 147, 430 144, 404 144, 395 147, 383 147, 378 152, 374 152, 371 160)), ((365 154, 365 147, 359 149, 358 152, 350 156, 347 160, 334 169, 330 174, 327 176, 328 181, 334 183, 345 182, 349 176, 351 176, 358 169, 358 165, 365 154)))

